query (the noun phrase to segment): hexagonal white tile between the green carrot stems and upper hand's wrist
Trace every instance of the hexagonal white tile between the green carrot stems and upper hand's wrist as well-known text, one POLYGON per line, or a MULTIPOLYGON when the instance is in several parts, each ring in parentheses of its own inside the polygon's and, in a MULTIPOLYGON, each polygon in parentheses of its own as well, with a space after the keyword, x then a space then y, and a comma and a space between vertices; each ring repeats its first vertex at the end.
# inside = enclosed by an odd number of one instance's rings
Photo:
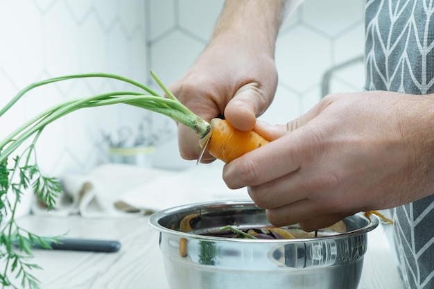
POLYGON ((170 85, 189 69, 203 49, 204 44, 180 31, 174 31, 152 46, 150 69, 165 84, 170 85))

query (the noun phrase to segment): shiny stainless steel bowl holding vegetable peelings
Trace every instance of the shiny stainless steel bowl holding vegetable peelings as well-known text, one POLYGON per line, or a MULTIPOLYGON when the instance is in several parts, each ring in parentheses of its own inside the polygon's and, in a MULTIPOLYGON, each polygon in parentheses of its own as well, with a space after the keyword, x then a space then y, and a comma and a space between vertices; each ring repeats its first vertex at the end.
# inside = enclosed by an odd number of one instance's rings
POLYGON ((246 201, 185 205, 159 211, 149 219, 160 232, 159 247, 171 289, 356 289, 367 232, 379 225, 379 219, 356 214, 343 222, 345 233, 324 231, 327 236, 317 238, 206 236, 227 225, 270 226, 265 210, 246 201))

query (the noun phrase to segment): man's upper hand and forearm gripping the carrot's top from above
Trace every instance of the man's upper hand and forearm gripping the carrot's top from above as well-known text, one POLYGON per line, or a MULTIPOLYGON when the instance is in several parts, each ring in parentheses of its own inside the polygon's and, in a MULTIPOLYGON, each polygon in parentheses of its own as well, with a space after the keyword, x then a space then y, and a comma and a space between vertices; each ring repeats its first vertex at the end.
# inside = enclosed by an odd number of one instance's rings
MULTIPOLYGON (((226 1, 207 48, 168 88, 203 119, 224 116, 238 130, 252 130, 275 95, 275 41, 283 8, 283 0, 226 1)), ((198 158, 196 134, 180 125, 178 140, 184 159, 198 158)))

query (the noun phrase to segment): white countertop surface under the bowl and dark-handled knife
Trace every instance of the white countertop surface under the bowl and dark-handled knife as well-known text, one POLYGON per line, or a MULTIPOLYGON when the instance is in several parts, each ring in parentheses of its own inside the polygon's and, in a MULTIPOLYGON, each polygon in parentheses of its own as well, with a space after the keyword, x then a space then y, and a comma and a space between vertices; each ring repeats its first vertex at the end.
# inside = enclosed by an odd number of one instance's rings
MULTIPOLYGON (((25 216, 19 224, 36 234, 70 238, 119 240, 116 253, 34 249, 34 263, 43 270, 35 276, 44 289, 168 289, 159 233, 148 226, 148 217, 85 219, 25 216)), ((368 234, 361 283, 358 289, 404 289, 383 227, 368 234)), ((196 289, 196 288, 192 288, 196 289)))

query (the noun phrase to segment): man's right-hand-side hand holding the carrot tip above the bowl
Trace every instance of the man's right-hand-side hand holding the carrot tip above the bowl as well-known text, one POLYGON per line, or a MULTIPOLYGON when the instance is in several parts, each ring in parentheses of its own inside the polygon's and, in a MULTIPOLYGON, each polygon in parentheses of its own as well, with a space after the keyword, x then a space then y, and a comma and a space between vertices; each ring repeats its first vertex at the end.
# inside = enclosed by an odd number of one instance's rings
POLYGON ((434 96, 385 91, 327 96, 225 166, 272 224, 313 231, 358 211, 388 209, 434 191, 434 96))

